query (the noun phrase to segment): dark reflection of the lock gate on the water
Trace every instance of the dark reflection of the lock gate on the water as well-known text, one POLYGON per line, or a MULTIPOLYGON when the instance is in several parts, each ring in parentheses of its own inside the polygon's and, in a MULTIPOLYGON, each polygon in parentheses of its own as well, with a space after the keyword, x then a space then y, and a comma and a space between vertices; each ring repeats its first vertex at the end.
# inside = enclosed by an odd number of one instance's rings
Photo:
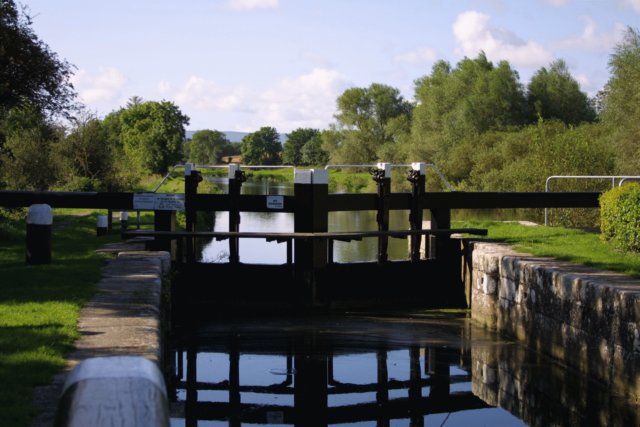
MULTIPOLYGON (((182 362, 177 371, 181 380, 178 389, 186 394, 186 425, 195 425, 197 420, 229 420, 229 425, 328 425, 362 421, 389 425, 392 419, 407 419, 411 425, 423 425, 427 414, 489 407, 471 392, 469 373, 457 369, 451 374, 451 367, 460 362, 460 354, 455 350, 413 346, 359 353, 335 349, 325 352, 319 351, 312 340, 306 340, 291 343, 286 353, 277 356, 285 380, 267 385, 241 381, 244 367, 241 354, 247 359, 264 356, 264 353, 251 353, 250 349, 245 351, 239 342, 230 343, 224 353, 228 355, 228 374, 221 381, 211 381, 197 380, 195 347, 178 352, 178 361, 186 359, 186 367, 182 362), (409 354, 404 367, 408 371, 406 380, 389 375, 389 354, 393 359, 393 354, 398 352, 409 354), (375 371, 369 374, 371 381, 341 380, 336 367, 340 359, 349 357, 375 360, 375 371), (215 399, 199 399, 211 391, 226 394, 226 399, 219 393, 215 399), (286 400, 289 402, 273 403, 286 400), (260 401, 263 403, 258 403, 260 401)), ((207 353, 200 355, 211 357, 207 353)))

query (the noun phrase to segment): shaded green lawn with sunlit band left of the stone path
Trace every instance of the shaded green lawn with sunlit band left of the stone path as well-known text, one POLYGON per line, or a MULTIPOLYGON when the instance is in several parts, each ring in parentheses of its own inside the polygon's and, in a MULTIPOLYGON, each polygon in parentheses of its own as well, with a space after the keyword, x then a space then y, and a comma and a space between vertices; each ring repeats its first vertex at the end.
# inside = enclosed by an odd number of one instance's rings
POLYGON ((49 384, 78 338, 80 308, 95 293, 106 259, 95 249, 99 212, 54 211, 52 262, 25 261, 24 221, 3 221, 0 237, 0 425, 28 426, 33 388, 49 384), (82 213, 82 212, 81 212, 82 213))

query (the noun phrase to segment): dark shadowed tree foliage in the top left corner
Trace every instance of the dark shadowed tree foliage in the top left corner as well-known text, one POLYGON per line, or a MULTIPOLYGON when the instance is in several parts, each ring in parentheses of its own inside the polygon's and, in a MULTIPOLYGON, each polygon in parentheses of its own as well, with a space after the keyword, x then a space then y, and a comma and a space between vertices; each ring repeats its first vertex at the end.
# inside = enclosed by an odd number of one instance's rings
POLYGON ((0 120, 25 105, 45 115, 68 115, 75 108, 72 66, 58 59, 31 24, 13 0, 0 0, 0 120))

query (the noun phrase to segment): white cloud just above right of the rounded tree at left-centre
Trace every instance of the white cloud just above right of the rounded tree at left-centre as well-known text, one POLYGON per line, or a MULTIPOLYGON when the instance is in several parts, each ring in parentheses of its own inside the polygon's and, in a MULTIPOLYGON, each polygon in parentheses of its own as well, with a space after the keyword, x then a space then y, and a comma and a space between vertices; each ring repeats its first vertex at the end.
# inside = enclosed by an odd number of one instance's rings
POLYGON ((212 111, 239 110, 244 99, 245 91, 242 88, 223 88, 215 82, 196 76, 189 77, 175 95, 178 104, 212 111))

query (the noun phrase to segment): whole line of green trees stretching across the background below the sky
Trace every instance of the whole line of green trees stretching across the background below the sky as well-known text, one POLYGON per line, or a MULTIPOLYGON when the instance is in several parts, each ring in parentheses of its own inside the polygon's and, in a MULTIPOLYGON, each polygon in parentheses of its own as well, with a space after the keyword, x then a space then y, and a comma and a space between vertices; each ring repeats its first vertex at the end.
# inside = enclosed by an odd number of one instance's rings
POLYGON ((69 82, 72 65, 13 0, 0 0, 0 188, 124 190, 180 162, 233 154, 295 166, 423 161, 458 190, 541 191, 550 175, 640 174, 637 29, 627 28, 608 66, 590 98, 561 59, 525 85, 507 61, 479 52, 436 62, 414 81, 414 101, 381 83, 347 89, 327 129, 299 128, 284 143, 273 127, 240 143, 212 129, 186 140, 189 117, 170 101, 133 96, 104 118, 88 112, 69 82))

